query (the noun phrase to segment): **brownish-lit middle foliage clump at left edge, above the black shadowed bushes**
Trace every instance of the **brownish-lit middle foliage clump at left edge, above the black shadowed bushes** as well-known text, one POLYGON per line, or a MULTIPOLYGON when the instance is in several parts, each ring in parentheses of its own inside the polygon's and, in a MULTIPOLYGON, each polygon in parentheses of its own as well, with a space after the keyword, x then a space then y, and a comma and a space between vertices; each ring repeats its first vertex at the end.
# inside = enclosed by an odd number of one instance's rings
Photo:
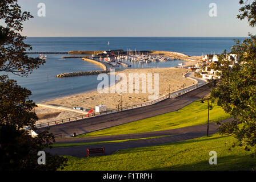
POLYGON ((24 126, 35 129, 34 123, 38 118, 31 111, 36 105, 28 100, 30 90, 17 85, 6 75, 0 76, 0 88, 0 123, 17 126, 17 129, 24 126))

